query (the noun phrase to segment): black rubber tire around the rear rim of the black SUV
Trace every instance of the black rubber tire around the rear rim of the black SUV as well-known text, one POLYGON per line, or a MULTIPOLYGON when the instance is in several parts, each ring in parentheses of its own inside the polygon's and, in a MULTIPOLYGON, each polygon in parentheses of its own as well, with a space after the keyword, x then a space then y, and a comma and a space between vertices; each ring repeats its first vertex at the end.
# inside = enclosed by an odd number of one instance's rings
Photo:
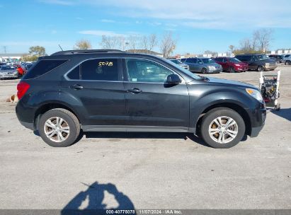
POLYGON ((45 143, 53 147, 67 147, 76 141, 77 137, 80 134, 80 123, 77 117, 70 112, 69 110, 62 108, 55 108, 45 112, 41 117, 38 123, 38 132, 45 143), (52 117, 61 117, 65 122, 67 122, 67 126, 69 127, 69 134, 67 139, 60 142, 55 142, 50 140, 45 134, 45 122, 52 117))

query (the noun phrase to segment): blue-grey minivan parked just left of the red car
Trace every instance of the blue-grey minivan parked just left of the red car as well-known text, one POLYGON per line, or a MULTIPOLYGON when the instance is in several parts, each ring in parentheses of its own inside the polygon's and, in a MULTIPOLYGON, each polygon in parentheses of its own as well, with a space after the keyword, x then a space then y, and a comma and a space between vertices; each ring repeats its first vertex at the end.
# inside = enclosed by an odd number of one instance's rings
POLYGON ((184 64, 189 65, 189 70, 192 72, 219 73, 222 71, 222 66, 217 64, 213 59, 206 57, 187 58, 184 64))

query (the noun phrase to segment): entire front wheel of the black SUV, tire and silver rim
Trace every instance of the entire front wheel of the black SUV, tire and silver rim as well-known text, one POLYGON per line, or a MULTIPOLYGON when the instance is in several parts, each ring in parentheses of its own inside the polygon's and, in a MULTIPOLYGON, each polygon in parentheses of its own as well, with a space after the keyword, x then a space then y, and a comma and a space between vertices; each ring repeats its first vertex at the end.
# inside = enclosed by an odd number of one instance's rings
POLYGON ((246 127, 239 113, 230 108, 215 108, 202 119, 202 139, 217 149, 226 149, 241 141, 246 127))

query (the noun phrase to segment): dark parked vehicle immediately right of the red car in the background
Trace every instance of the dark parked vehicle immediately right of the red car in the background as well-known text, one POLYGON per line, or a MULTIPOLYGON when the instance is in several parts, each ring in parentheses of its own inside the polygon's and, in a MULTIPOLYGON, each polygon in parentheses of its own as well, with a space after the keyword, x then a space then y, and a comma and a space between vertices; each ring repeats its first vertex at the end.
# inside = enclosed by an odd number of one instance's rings
POLYGON ((275 60, 270 59, 266 54, 239 54, 235 58, 249 64, 251 70, 266 71, 277 68, 275 60))

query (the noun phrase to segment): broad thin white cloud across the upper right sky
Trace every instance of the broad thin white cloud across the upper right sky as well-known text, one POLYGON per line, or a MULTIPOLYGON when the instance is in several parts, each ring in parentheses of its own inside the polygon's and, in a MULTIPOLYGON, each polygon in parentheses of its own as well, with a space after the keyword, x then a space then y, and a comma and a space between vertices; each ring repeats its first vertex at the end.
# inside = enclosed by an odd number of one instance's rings
POLYGON ((286 23, 291 18, 290 0, 281 0, 280 4, 266 0, 184 0, 183 4, 176 0, 84 0, 82 4, 110 7, 115 16, 148 18, 154 20, 152 23, 171 22, 188 28, 291 28, 291 23, 286 23))

